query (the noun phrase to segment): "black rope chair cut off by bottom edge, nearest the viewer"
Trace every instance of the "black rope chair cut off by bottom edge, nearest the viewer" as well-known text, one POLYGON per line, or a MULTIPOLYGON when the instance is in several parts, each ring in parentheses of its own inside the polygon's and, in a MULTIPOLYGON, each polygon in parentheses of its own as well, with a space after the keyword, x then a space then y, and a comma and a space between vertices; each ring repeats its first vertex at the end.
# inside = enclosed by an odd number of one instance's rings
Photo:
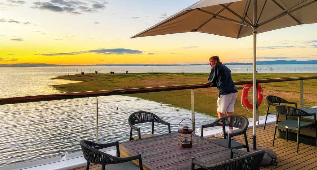
POLYGON ((225 160, 219 163, 210 164, 204 163, 195 158, 191 159, 191 170, 195 169, 195 165, 207 170, 258 170, 260 169, 261 161, 265 151, 259 150, 252 153, 247 153, 238 149, 231 148, 231 154, 236 153, 242 156, 225 160))

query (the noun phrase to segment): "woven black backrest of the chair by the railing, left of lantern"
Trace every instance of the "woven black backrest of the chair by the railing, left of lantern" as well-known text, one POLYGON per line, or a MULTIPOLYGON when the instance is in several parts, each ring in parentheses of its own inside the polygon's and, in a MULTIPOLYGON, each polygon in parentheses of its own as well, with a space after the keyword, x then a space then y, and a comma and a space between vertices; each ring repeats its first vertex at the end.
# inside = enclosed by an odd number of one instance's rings
POLYGON ((161 118, 159 118, 159 116, 145 111, 134 112, 129 116, 128 122, 130 125, 145 122, 158 122, 167 125, 167 122, 163 121, 161 118))

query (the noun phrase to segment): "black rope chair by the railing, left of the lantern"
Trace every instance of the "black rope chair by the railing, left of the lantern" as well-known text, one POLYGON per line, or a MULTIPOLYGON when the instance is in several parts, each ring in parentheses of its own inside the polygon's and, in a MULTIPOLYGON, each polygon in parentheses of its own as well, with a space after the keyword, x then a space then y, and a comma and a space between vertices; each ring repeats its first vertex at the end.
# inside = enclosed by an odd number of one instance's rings
MULTIPOLYGON (((129 138, 130 141, 133 139, 141 139, 141 128, 137 128, 134 126, 138 123, 152 122, 152 135, 151 136, 154 135, 154 122, 167 125, 168 126, 168 133, 171 133, 170 123, 163 121, 161 118, 159 118, 159 116, 157 116, 153 113, 150 113, 150 112, 145 112, 145 111, 134 112, 133 114, 131 114, 129 116, 128 122, 129 122, 129 125, 131 127, 130 138, 129 138), (138 131, 137 137, 132 137, 132 129, 138 131)), ((143 135, 143 138, 148 137, 148 136, 149 135, 143 135)))

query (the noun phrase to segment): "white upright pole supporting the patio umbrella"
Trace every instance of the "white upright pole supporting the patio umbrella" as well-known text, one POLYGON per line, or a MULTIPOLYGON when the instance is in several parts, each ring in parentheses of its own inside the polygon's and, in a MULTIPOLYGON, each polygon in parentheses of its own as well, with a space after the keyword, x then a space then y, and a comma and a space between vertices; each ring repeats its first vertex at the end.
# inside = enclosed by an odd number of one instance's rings
POLYGON ((253 85, 253 93, 252 93, 252 98, 253 98, 253 108, 252 108, 252 116, 253 116, 253 149, 256 150, 256 106, 257 106, 257 85, 256 85, 256 29, 257 29, 257 25, 256 25, 256 1, 257 0, 253 0, 253 81, 252 81, 252 85, 253 85))

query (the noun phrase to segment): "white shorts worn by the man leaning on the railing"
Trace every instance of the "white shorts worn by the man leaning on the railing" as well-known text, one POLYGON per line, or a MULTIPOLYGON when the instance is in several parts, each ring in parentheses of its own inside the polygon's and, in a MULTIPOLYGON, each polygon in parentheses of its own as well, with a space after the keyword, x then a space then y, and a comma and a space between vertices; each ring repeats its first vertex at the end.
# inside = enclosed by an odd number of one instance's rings
POLYGON ((230 93, 228 95, 220 95, 217 100, 217 112, 226 114, 226 112, 233 112, 235 102, 237 99, 236 93, 230 93))

